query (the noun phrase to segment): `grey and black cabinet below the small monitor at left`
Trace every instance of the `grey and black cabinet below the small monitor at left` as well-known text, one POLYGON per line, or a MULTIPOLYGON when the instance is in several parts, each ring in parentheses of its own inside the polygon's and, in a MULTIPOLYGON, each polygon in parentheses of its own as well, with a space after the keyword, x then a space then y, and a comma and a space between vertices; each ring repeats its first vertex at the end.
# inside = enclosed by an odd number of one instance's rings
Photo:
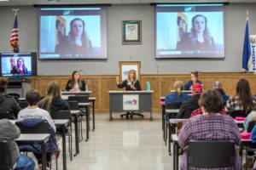
POLYGON ((31 82, 24 77, 9 77, 6 94, 19 94, 20 98, 25 98, 26 93, 31 89, 31 82))

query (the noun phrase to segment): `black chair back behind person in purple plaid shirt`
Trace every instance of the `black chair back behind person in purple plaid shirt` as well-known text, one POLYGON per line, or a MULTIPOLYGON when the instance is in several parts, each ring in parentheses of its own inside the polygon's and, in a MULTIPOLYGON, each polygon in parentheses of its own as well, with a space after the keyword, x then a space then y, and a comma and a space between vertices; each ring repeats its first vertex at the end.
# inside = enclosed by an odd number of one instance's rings
POLYGON ((189 141, 187 163, 188 168, 235 167, 236 145, 228 141, 189 141))

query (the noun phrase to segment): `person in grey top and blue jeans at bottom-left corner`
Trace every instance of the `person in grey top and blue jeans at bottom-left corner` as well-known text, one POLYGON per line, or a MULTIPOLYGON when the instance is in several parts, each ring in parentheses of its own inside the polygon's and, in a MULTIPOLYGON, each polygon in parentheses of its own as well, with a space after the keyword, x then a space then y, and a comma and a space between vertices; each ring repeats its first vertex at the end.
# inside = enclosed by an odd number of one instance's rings
MULTIPOLYGON (((20 129, 15 126, 15 123, 9 122, 8 120, 0 120, 0 141, 3 140, 14 140, 20 137, 20 129)), ((12 153, 19 151, 17 144, 12 146, 12 153)), ((16 162, 15 169, 26 169, 34 170, 35 162, 32 158, 20 154, 18 161, 16 162)))

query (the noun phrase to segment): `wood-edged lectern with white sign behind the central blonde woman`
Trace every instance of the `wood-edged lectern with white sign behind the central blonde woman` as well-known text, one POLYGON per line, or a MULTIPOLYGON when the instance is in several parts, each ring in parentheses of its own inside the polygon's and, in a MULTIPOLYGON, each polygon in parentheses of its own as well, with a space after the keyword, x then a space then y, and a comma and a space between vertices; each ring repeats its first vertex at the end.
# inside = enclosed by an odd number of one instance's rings
POLYGON ((131 70, 136 71, 137 80, 140 81, 141 61, 119 61, 119 77, 121 81, 127 79, 131 70))

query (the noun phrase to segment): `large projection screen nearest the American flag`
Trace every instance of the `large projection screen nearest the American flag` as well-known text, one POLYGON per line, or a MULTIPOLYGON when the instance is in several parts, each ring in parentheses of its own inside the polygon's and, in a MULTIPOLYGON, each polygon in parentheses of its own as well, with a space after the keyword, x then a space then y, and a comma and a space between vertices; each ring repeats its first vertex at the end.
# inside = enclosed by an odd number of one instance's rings
POLYGON ((105 6, 39 6, 39 59, 107 59, 105 6))

